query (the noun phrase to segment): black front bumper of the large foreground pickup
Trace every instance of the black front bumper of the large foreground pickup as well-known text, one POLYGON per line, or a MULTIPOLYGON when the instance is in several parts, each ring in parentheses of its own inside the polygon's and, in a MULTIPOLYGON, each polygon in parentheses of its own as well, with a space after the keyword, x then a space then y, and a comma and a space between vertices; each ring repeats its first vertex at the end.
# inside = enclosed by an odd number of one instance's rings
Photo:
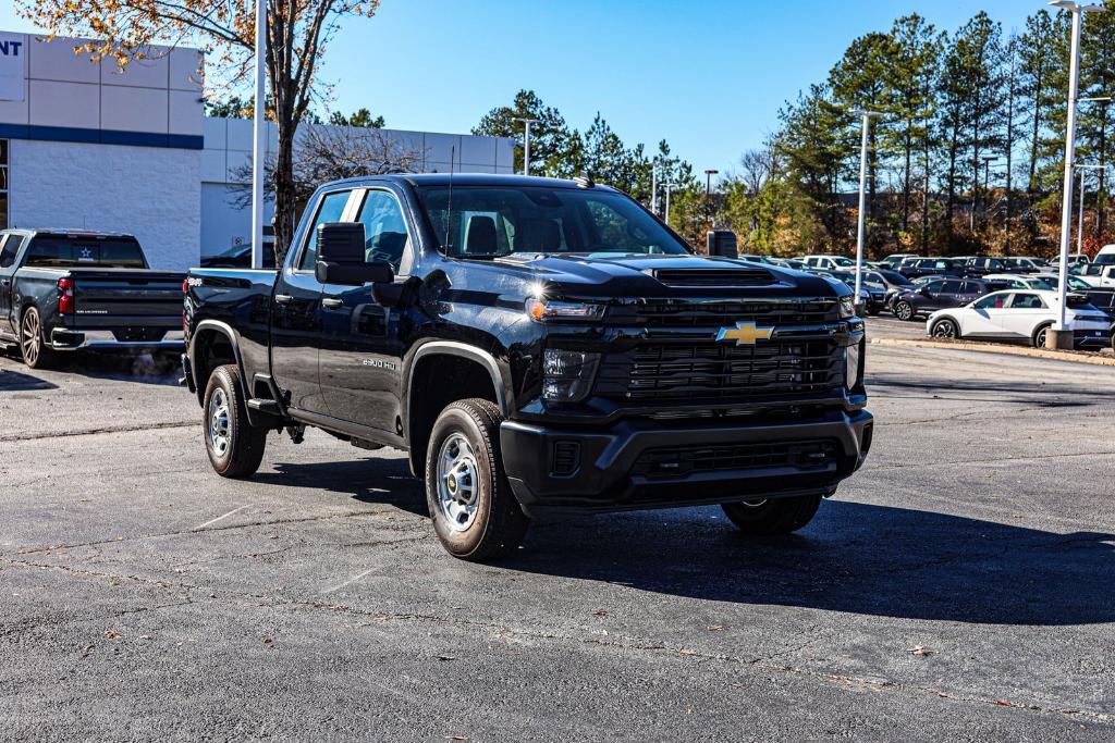
POLYGON ((537 518, 828 496, 863 463, 871 434, 871 413, 833 410, 765 424, 623 420, 602 430, 505 421, 500 442, 512 489, 537 518))

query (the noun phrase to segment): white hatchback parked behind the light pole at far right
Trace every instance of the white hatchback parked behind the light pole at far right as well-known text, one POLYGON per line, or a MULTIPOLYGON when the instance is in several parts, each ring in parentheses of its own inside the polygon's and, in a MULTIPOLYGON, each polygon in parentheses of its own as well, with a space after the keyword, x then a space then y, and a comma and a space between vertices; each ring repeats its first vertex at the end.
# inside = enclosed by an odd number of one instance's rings
MULTIPOLYGON (((925 321, 934 338, 997 338, 1029 340, 1045 346, 1047 331, 1060 316, 1057 292, 1006 290, 991 292, 962 307, 938 310, 925 321)), ((1080 294, 1068 295, 1066 327, 1077 349, 1099 349, 1112 343, 1113 319, 1092 306, 1080 294)))

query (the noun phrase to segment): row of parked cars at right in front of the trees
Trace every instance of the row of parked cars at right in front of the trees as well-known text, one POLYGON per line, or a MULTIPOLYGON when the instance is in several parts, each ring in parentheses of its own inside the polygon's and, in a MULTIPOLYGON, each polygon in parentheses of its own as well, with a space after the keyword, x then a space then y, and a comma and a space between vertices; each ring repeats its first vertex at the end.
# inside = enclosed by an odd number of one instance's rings
MULTIPOLYGON (((777 260, 788 267, 855 284, 855 262, 842 255, 777 260)), ((1028 340, 1044 346, 1060 319, 1057 262, 1039 257, 925 257, 890 255, 866 262, 860 302, 869 314, 889 310, 904 321, 925 319, 937 338, 1028 340)), ((1115 344, 1115 245, 1094 261, 1073 256, 1068 272, 1066 326, 1079 349, 1115 344)))

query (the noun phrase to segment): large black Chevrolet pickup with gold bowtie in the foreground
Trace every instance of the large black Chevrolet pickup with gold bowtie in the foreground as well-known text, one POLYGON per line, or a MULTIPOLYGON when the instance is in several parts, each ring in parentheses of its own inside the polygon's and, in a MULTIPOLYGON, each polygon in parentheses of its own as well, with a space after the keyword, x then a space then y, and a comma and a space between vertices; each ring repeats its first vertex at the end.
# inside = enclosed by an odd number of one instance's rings
POLYGON ((332 183, 278 274, 187 284, 183 381, 220 475, 307 426, 407 450, 465 559, 573 511, 723 504, 786 534, 871 446, 844 284, 695 255, 588 178, 332 183))

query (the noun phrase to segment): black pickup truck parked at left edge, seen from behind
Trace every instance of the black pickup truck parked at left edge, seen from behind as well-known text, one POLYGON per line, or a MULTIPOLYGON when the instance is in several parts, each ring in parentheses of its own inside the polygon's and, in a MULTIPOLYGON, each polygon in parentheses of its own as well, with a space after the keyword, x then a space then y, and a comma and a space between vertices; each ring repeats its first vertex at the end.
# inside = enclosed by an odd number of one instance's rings
POLYGON ((151 271, 130 235, 0 231, 0 342, 32 369, 77 350, 176 360, 185 276, 151 271))

